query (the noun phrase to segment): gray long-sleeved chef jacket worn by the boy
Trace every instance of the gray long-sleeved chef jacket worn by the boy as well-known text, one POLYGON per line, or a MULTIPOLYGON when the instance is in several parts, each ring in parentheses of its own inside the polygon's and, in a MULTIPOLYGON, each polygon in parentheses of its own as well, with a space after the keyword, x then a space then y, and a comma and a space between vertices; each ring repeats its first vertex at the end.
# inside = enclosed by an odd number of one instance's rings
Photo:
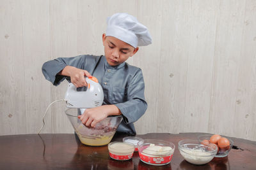
POLYGON ((140 68, 126 62, 110 66, 105 56, 79 55, 76 57, 58 58, 45 62, 42 72, 53 85, 70 77, 57 75, 65 66, 74 66, 88 71, 95 76, 104 92, 104 104, 115 104, 124 118, 118 132, 136 134, 133 122, 136 122, 147 110, 144 89, 145 84, 140 68))

